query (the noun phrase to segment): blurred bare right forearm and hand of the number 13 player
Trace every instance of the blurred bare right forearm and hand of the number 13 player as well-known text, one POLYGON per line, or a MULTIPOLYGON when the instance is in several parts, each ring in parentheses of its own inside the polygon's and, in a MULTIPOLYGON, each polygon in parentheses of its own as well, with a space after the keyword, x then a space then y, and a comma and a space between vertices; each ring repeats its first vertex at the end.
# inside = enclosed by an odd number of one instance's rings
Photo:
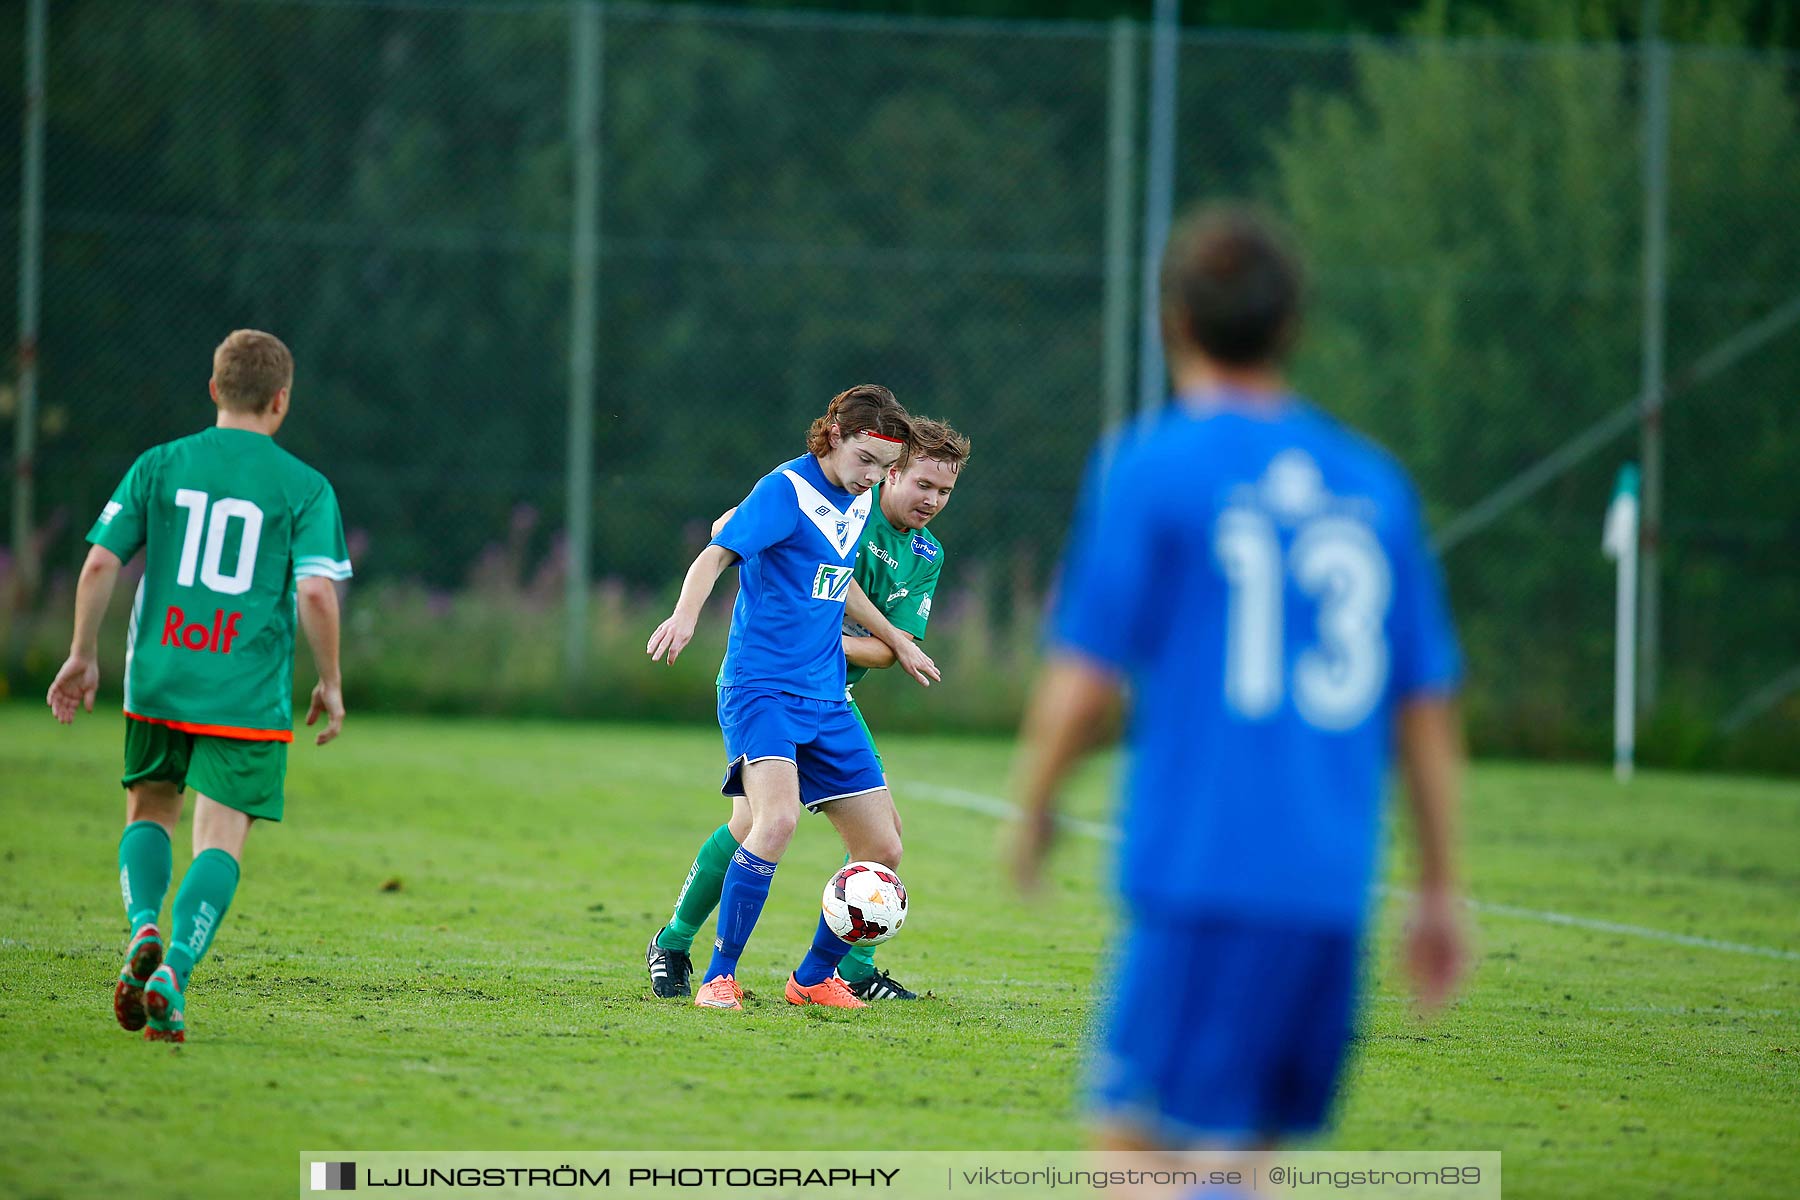
POLYGON ((1406 966, 1418 1004, 1429 1013, 1454 993, 1469 957, 1456 883, 1463 752, 1456 703, 1449 698, 1411 700, 1397 721, 1400 772, 1418 842, 1418 900, 1406 930, 1406 966))

